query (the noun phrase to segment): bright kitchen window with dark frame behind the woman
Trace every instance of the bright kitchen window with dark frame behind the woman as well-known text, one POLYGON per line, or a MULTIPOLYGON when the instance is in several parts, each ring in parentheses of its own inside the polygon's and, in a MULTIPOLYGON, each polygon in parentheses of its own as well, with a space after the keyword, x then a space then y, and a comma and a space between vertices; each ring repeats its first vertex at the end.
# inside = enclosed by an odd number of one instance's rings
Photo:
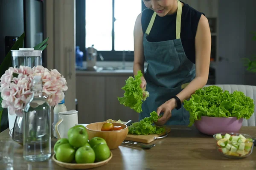
MULTIPOLYGON (((76 0, 76 6, 80 10, 77 12, 81 12, 78 1, 76 0)), ((123 51, 130 51, 126 53, 125 60, 133 61, 134 24, 138 14, 145 8, 142 0, 85 0, 85 44, 77 45, 82 51, 94 45, 104 60, 112 61, 121 61, 123 51), (84 48, 81 47, 83 45, 84 48)), ((76 17, 78 16, 77 13, 76 17)), ((76 22, 82 20, 77 18, 76 22)), ((76 30, 83 31, 81 28, 76 30)), ((79 39, 77 42, 82 42, 82 38, 76 36, 79 39)))

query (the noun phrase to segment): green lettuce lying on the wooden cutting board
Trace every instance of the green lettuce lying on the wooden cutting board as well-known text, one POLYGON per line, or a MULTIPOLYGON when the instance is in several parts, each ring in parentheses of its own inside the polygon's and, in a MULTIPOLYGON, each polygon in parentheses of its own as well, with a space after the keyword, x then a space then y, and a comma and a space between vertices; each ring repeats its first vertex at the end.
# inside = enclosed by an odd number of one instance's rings
POLYGON ((161 116, 157 116, 157 112, 153 111, 150 113, 151 116, 145 117, 140 122, 132 123, 129 128, 129 134, 136 135, 148 135, 148 134, 162 134, 165 132, 164 127, 157 127, 152 125, 154 122, 157 122, 161 116))

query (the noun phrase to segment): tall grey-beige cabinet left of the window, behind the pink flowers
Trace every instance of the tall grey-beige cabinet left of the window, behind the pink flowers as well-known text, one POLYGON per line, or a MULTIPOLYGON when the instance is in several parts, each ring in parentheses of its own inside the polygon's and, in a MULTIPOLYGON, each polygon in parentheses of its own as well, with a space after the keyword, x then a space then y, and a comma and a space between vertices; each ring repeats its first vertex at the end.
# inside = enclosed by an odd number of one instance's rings
POLYGON ((44 6, 46 37, 49 37, 49 45, 43 52, 47 68, 57 69, 64 76, 68 86, 65 105, 67 110, 76 109, 76 0, 46 0, 44 6))

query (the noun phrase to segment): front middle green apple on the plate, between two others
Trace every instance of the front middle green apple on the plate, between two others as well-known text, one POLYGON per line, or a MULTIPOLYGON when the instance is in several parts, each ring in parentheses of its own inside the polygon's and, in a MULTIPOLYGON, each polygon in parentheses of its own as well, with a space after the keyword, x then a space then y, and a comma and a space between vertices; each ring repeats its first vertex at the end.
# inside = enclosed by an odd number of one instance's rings
POLYGON ((75 155, 76 163, 87 164, 95 161, 94 150, 90 146, 79 147, 75 155))

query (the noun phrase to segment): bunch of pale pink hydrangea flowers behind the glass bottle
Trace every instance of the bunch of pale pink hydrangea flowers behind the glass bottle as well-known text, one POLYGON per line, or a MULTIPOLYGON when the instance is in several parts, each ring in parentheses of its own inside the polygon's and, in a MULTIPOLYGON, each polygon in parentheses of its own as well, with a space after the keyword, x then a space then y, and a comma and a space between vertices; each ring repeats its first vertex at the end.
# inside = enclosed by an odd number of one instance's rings
POLYGON ((2 108, 9 107, 10 114, 22 116, 23 108, 32 95, 31 82, 34 76, 42 77, 42 93, 50 106, 58 105, 64 99, 63 91, 67 91, 67 81, 56 69, 49 71, 41 65, 34 68, 10 67, 0 78, 2 108))

